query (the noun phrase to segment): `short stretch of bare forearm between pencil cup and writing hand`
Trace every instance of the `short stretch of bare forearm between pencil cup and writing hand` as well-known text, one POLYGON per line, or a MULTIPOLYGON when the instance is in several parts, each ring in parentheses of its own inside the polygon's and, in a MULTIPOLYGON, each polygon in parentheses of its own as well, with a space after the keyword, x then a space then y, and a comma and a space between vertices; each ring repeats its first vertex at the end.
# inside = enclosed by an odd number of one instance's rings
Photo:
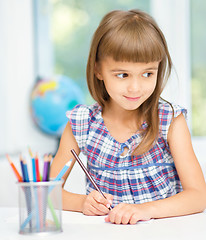
POLYGON ((62 190, 62 207, 63 210, 82 212, 86 195, 76 194, 62 190))

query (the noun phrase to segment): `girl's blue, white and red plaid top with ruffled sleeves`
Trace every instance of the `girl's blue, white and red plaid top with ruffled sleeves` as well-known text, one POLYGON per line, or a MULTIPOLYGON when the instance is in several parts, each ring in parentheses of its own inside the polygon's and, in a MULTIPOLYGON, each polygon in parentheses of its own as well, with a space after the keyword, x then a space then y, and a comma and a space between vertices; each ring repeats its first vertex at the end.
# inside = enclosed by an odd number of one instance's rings
MULTIPOLYGON (((174 117, 186 110, 173 105, 174 117)), ((74 137, 87 167, 99 188, 114 196, 113 205, 120 202, 144 203, 175 195, 182 190, 174 161, 167 143, 167 134, 173 118, 172 107, 159 102, 159 136, 154 146, 143 155, 131 157, 141 142, 140 133, 124 143, 116 141, 104 125, 102 108, 97 104, 77 105, 67 112, 74 137), (127 153, 122 156, 124 148, 127 153)), ((142 128, 146 128, 144 122, 142 128)), ((87 194, 94 190, 87 180, 87 194)))

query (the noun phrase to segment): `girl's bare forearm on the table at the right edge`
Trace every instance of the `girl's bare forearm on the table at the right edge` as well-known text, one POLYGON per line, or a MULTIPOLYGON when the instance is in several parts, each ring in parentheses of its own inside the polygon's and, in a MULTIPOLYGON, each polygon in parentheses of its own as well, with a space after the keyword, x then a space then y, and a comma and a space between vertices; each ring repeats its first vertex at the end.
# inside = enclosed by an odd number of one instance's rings
POLYGON ((204 211, 206 208, 206 190, 185 190, 172 197, 146 203, 152 212, 152 218, 174 217, 204 211))

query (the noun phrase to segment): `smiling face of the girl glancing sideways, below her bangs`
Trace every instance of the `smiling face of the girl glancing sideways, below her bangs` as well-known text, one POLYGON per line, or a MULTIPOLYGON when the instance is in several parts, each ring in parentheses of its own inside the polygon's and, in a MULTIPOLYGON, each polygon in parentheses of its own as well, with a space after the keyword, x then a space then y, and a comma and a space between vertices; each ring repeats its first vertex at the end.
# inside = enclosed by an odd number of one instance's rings
POLYGON ((111 107, 135 110, 153 93, 159 62, 133 63, 106 57, 96 64, 96 77, 104 81, 111 107))

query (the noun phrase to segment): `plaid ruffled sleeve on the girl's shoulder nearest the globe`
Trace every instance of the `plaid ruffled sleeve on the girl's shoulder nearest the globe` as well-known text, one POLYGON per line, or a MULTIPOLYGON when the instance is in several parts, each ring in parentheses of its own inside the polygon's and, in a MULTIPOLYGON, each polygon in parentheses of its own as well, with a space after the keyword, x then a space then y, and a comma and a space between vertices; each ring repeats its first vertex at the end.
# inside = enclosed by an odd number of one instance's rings
POLYGON ((85 105, 77 105, 66 112, 72 132, 81 151, 84 150, 89 131, 90 111, 85 105))

